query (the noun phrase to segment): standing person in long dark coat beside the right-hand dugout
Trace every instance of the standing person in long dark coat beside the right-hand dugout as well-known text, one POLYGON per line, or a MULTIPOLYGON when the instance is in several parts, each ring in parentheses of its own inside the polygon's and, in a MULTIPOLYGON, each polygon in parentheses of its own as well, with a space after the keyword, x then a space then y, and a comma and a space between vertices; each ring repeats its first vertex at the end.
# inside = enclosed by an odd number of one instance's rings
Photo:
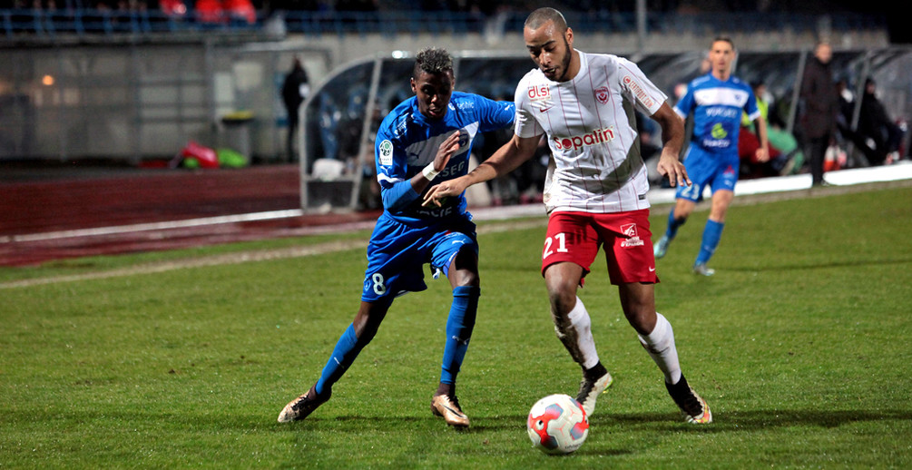
POLYGON ((824 155, 827 147, 834 143, 836 115, 839 112, 839 96, 830 70, 832 58, 830 45, 818 43, 814 48, 814 57, 804 68, 801 83, 801 129, 805 154, 811 162, 812 186, 826 185, 824 155))

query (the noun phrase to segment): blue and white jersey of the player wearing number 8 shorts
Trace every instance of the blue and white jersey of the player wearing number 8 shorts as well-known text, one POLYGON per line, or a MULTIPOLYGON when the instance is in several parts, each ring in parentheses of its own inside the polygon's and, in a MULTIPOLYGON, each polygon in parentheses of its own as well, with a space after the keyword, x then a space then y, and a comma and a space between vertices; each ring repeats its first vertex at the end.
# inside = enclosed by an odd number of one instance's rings
MULTIPOLYGON (((415 97, 402 101, 380 123, 374 142, 381 193, 397 183, 409 184, 411 177, 434 161, 440 142, 457 130, 459 150, 428 187, 466 174, 472 144, 479 132, 496 131, 513 124, 515 113, 512 101, 494 101, 459 91, 452 93, 447 113, 440 120, 430 120, 421 114, 415 97)), ((442 207, 421 207, 420 197, 401 208, 384 205, 385 213, 408 225, 436 224, 466 210, 464 194, 450 198, 442 207)))

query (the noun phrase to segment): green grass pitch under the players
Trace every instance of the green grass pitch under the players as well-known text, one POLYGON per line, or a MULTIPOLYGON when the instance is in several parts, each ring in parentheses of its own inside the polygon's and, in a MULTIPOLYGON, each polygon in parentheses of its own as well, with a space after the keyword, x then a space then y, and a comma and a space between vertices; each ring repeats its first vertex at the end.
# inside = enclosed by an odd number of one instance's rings
POLYGON ((579 451, 534 450, 526 413, 546 394, 574 394, 580 373, 554 338, 538 274, 544 223, 492 223, 481 225, 481 307, 460 375, 465 432, 429 408, 443 279, 396 301, 330 402, 304 422, 275 422, 354 317, 363 246, 19 286, 315 242, 0 269, 0 468, 912 465, 912 188, 733 206, 709 278, 689 272, 705 217, 658 260, 657 303, 710 403, 708 426, 681 420, 599 256, 580 297, 615 384, 579 451))

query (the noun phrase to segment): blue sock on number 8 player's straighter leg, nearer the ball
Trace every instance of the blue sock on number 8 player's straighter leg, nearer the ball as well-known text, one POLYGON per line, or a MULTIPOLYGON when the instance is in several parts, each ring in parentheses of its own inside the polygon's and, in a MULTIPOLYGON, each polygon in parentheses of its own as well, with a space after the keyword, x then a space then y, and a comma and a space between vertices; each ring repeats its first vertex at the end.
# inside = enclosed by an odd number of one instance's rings
POLYGON ((469 339, 472 339, 481 293, 479 287, 453 289, 453 303, 447 319, 447 341, 443 347, 443 363, 440 368, 440 381, 443 383, 456 383, 456 374, 459 373, 466 350, 469 350, 469 339))

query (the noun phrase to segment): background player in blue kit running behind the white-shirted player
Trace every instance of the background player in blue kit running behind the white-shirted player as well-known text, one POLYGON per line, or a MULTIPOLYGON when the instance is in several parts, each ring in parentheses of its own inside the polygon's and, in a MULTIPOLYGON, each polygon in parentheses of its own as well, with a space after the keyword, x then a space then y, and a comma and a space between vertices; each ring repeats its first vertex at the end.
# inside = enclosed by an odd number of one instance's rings
POLYGON ((725 214, 734 199, 738 181, 738 131, 741 129, 741 112, 756 123, 760 148, 759 162, 769 160, 766 139, 766 120, 757 108, 757 99, 750 85, 731 75, 735 47, 728 37, 717 37, 710 47, 710 73, 695 78, 688 85, 687 93, 675 105, 675 112, 682 119, 693 113, 693 135, 684 167, 690 177, 690 186, 679 186, 675 206, 668 214, 668 228, 656 243, 655 256, 668 252, 668 244, 678 235, 678 229, 687 222, 694 207, 703 199, 703 189, 712 190, 710 218, 703 229, 700 253, 694 261, 693 272, 712 276, 715 270, 706 266, 716 251, 725 226, 725 214))

